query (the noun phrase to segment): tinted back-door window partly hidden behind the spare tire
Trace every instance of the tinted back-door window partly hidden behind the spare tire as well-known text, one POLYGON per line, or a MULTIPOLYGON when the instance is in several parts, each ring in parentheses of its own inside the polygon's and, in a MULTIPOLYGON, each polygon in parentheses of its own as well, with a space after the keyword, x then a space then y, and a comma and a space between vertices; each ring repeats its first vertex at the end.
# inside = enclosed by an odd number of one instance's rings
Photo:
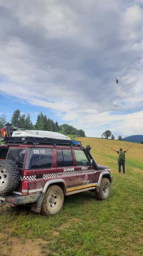
POLYGON ((16 162, 19 168, 23 168, 26 149, 9 148, 7 158, 16 162))

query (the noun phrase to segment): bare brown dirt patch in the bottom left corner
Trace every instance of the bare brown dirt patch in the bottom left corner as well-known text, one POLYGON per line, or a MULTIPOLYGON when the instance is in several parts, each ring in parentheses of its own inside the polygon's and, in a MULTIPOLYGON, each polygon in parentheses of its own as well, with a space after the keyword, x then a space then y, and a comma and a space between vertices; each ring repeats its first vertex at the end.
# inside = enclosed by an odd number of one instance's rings
POLYGON ((47 244, 46 241, 42 239, 32 240, 23 237, 11 237, 6 240, 6 235, 0 240, 0 255, 10 255, 10 256, 39 256, 45 255, 41 253, 43 246, 47 244))

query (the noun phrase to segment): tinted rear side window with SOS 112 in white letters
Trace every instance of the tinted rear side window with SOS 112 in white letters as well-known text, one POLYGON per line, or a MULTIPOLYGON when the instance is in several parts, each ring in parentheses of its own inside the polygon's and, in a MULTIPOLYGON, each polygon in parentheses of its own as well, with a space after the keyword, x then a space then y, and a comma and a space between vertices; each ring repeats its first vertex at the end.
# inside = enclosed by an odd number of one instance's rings
POLYGON ((29 148, 26 160, 26 170, 50 168, 53 161, 51 148, 29 148))

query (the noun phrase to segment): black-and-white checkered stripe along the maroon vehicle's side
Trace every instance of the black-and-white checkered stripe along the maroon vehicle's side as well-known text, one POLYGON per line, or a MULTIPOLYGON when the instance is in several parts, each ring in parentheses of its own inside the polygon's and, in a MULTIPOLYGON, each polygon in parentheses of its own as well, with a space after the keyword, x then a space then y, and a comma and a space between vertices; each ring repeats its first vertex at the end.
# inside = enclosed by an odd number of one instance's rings
MULTIPOLYGON (((109 171, 110 169, 105 169, 105 170, 95 170, 95 169, 91 169, 91 170, 81 170, 80 173, 79 171, 69 171, 69 172, 62 172, 61 174, 59 174, 58 172, 56 173, 47 173, 47 174, 43 174, 43 178, 42 179, 50 179, 50 178, 58 178, 58 177, 69 177, 69 176, 73 176, 73 175, 81 175, 81 174, 90 174, 90 173, 96 173, 96 172, 106 172, 109 171)), ((41 178, 40 178, 41 179, 41 178)), ((20 176, 20 181, 33 181, 33 180, 39 180, 36 179, 36 175, 30 175, 30 176, 20 176)))

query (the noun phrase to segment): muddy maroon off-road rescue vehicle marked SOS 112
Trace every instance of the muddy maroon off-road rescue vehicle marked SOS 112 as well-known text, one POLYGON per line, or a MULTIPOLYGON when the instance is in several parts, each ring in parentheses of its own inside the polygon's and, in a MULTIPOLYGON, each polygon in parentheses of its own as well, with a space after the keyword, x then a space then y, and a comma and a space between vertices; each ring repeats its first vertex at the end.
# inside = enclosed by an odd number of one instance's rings
POLYGON ((31 210, 54 215, 64 196, 92 190, 100 200, 110 195, 110 168, 96 164, 90 145, 65 135, 16 129, 1 138, 0 205, 28 204, 31 210))

